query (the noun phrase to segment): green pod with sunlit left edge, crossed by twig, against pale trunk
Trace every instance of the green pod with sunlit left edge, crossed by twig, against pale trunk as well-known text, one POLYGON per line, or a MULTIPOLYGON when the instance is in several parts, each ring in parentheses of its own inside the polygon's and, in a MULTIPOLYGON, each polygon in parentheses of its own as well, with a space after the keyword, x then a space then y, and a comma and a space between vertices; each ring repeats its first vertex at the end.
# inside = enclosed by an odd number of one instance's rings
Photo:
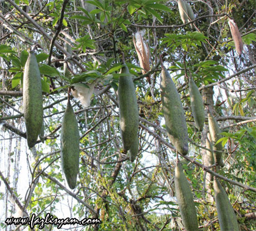
POLYGON ((219 125, 216 119, 213 117, 213 115, 210 112, 208 112, 208 123, 209 123, 209 132, 211 135, 211 140, 213 142, 214 160, 221 167, 223 167, 224 163, 222 160, 222 153, 220 152, 223 149, 222 144, 221 142, 218 144, 215 144, 222 137, 222 135, 220 135, 221 130, 219 128, 219 125))

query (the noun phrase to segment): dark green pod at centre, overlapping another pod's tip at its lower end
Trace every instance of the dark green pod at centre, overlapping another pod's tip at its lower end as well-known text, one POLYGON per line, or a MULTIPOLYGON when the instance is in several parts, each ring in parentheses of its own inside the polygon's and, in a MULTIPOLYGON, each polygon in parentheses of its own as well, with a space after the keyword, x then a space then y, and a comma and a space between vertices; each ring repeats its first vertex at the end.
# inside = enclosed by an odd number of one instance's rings
POLYGON ((122 74, 119 77, 118 99, 120 111, 120 129, 122 143, 125 150, 129 150, 134 145, 139 128, 139 111, 134 82, 129 76, 129 69, 124 63, 121 68, 122 74))

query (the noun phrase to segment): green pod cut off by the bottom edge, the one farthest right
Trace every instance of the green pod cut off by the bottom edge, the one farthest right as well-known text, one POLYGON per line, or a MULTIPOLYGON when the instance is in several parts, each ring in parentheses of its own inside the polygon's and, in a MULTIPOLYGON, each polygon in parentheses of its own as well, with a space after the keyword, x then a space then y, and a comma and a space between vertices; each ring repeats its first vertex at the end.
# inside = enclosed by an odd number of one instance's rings
POLYGON ((216 177, 214 177, 213 188, 220 230, 239 231, 237 217, 235 216, 234 209, 229 201, 227 193, 219 183, 219 180, 216 179, 216 177))

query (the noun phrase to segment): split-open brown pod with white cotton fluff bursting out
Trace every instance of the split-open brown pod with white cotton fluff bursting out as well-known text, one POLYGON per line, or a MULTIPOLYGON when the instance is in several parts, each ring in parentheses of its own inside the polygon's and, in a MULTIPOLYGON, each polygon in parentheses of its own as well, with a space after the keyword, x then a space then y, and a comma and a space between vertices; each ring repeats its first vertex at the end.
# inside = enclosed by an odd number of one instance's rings
MULTIPOLYGON (((146 72, 150 71, 149 61, 150 61, 150 53, 149 53, 149 46, 147 43, 143 40, 143 36, 146 33, 145 30, 138 31, 135 33, 135 36, 133 37, 134 40, 134 46, 137 52, 137 55, 139 57, 140 67, 143 68, 142 73, 145 74, 146 72)), ((147 82, 149 84, 150 81, 150 74, 146 77, 147 82)))

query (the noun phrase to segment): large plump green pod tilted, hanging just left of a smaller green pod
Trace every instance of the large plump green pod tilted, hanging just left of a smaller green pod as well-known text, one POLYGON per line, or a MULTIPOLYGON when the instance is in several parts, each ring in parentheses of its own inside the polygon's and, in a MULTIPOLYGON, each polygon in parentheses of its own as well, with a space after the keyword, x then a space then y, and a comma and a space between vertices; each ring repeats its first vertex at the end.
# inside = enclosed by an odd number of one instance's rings
POLYGON ((161 99, 163 114, 168 137, 179 153, 188 153, 188 128, 180 95, 175 87, 169 72, 163 68, 161 71, 161 99))

